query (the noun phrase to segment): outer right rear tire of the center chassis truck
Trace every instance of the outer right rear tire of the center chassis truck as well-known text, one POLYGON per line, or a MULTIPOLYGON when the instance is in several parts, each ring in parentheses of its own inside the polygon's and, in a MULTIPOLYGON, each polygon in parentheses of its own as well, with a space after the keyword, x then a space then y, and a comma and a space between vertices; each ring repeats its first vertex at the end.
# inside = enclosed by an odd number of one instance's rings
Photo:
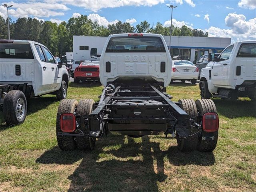
MULTIPOLYGON (((211 99, 198 99, 196 100, 196 107, 199 115, 203 115, 204 113, 214 112, 217 113, 216 106, 211 99)), ((203 131, 202 131, 203 132, 203 131)), ((214 136, 214 140, 202 140, 202 136, 199 137, 197 150, 204 152, 212 152, 218 141, 218 131, 211 132, 211 136, 214 136)))

